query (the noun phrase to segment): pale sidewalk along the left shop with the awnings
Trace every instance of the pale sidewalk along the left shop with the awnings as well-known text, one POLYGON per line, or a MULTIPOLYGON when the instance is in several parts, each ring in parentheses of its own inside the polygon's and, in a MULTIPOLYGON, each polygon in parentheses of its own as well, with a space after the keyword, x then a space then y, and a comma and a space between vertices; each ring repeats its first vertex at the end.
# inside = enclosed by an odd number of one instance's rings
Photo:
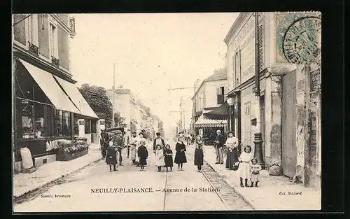
POLYGON ((92 143, 89 148, 89 153, 83 157, 78 157, 75 160, 68 162, 64 161, 55 161, 48 164, 44 164, 35 172, 31 174, 14 174, 13 176, 13 198, 21 197, 22 195, 27 194, 42 188, 48 183, 57 181, 59 178, 68 176, 74 171, 83 169, 93 162, 97 162, 102 158, 102 155, 99 151, 99 145, 92 143))

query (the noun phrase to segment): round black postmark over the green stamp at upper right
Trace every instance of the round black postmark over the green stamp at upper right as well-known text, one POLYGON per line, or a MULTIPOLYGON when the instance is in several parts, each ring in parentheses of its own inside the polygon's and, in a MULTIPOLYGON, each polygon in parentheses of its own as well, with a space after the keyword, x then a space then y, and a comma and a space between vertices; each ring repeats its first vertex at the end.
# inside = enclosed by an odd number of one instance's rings
POLYGON ((283 55, 292 64, 321 60, 321 19, 301 17, 286 29, 282 38, 283 55))

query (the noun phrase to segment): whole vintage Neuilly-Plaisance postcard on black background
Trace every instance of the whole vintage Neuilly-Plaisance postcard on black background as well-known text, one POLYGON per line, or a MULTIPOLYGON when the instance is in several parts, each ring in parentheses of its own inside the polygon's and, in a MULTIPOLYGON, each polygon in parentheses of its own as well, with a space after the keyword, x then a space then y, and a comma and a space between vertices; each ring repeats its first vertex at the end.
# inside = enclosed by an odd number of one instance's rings
POLYGON ((12 27, 13 213, 321 209, 321 13, 12 27))

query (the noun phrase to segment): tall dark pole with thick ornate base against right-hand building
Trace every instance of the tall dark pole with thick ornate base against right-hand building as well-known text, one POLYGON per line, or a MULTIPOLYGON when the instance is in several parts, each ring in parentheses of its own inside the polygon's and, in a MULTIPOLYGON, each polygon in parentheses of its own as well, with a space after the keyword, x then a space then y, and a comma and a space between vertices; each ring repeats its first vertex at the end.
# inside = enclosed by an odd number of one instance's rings
POLYGON ((256 107, 256 131, 254 133, 254 157, 258 160, 258 164, 265 169, 264 158, 262 157, 262 134, 261 134, 261 118, 260 118, 260 56, 259 56, 259 13, 254 13, 255 18, 255 97, 258 107, 256 107))

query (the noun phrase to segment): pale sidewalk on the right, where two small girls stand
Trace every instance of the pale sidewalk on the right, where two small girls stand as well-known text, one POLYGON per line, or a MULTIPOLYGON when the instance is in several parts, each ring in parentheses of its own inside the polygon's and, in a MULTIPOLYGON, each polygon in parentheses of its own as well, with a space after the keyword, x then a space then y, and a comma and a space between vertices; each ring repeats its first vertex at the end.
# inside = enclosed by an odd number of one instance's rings
MULTIPOLYGON (((193 146, 188 146, 193 154, 193 146)), ((228 170, 224 164, 215 164, 216 153, 213 146, 206 146, 204 160, 223 180, 235 189, 237 194, 255 210, 320 210, 321 190, 305 188, 301 184, 290 182, 285 176, 269 176, 262 170, 258 188, 241 188, 237 171, 228 170), (283 195, 286 192, 286 195, 283 195), (288 192, 302 192, 301 195, 288 195, 288 192)))

